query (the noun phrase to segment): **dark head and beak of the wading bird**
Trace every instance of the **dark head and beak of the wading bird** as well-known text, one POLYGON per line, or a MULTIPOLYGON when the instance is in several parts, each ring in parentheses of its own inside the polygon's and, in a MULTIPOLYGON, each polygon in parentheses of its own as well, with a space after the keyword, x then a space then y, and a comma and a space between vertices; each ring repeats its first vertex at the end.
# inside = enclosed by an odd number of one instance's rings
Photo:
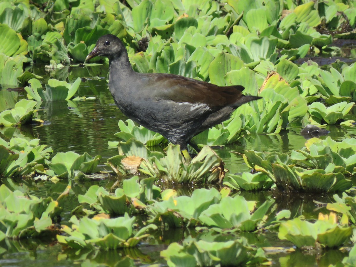
POLYGON ((120 57, 123 52, 126 52, 126 48, 121 40, 115 35, 107 34, 99 38, 94 49, 85 58, 85 61, 96 56, 104 56, 113 59, 120 57))

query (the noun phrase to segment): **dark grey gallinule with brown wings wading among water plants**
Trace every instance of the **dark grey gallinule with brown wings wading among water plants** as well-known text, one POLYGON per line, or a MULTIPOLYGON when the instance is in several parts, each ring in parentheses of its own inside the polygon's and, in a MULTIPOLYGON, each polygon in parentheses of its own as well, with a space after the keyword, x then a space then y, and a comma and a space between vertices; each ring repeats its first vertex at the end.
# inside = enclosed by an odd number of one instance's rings
POLYGON ((96 56, 109 58, 109 89, 122 113, 180 145, 186 159, 193 136, 229 119, 238 106, 260 99, 243 95, 241 85, 220 87, 174 74, 137 73, 115 35, 101 36, 85 60, 96 56))

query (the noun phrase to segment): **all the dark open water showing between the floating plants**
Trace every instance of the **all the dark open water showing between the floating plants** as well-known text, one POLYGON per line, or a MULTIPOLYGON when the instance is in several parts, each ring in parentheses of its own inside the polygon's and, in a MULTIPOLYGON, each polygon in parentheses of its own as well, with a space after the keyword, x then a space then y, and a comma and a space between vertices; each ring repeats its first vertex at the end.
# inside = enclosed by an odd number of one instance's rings
MULTIPOLYGON (((117 122, 126 120, 119 109, 116 108, 114 101, 107 88, 108 66, 99 67, 72 67, 58 70, 45 70, 44 66, 35 66, 33 72, 43 76, 44 80, 56 78, 74 82, 77 77, 82 77, 82 82, 78 90, 80 96, 95 96, 95 100, 87 101, 60 101, 42 103, 38 114, 45 121, 41 126, 28 126, 19 129, 1 129, 0 136, 9 140, 12 136, 27 138, 38 138, 40 144, 52 147, 54 154, 57 152, 74 151, 77 153, 88 152, 91 156, 101 155, 103 158, 99 165, 99 170, 103 171, 107 167, 104 165, 106 159, 117 155, 117 150, 108 147, 108 141, 118 141, 114 133, 119 131, 117 122), (87 79, 85 79, 88 78, 87 79), (97 79, 93 79, 97 77, 97 79), (89 79, 90 78, 90 79, 89 79)), ((16 101, 24 98, 23 91, 8 91, 6 88, 0 90, 0 111, 12 108, 16 101)), ((307 123, 307 120, 305 121, 307 123)), ((306 139, 300 135, 302 124, 294 124, 288 127, 288 131, 277 135, 249 135, 243 137, 239 142, 214 148, 216 153, 225 162, 225 167, 231 173, 240 173, 248 171, 241 155, 245 149, 257 151, 278 151, 290 152, 304 147, 306 139)), ((329 136, 334 140, 341 141, 346 137, 355 137, 356 129, 354 127, 329 126, 329 136)), ((320 138, 326 138, 320 137, 320 138)), ((163 150, 164 147, 155 147, 153 149, 163 150)), ((59 224, 68 224, 70 211, 78 203, 78 194, 84 194, 93 184, 98 184, 106 188, 111 188, 116 182, 117 177, 93 181, 93 182, 72 182, 72 192, 67 198, 65 210, 62 213, 62 220, 59 224)), ((33 180, 5 179, 1 181, 11 190, 20 190, 28 192, 38 197, 50 196, 56 199, 68 185, 67 180, 59 182, 35 182, 33 180)), ((176 188, 178 194, 190 195, 194 187, 176 188)), ((284 195, 277 192, 233 192, 241 194, 247 200, 263 201, 268 199, 276 200, 276 209, 288 209, 292 217, 304 215, 305 218, 317 218, 320 211, 326 212, 326 209, 319 206, 315 201, 322 203, 334 202, 332 195, 284 195)), ((137 265, 150 265, 158 263, 165 265, 165 261, 159 257, 159 251, 165 249, 171 242, 179 242, 188 236, 198 236, 204 233, 188 229, 164 229, 159 230, 154 236, 149 237, 138 248, 98 252, 81 251, 80 253, 71 253, 63 251, 61 245, 56 239, 42 240, 4 240, 0 242, 0 266, 72 266, 83 264, 85 266, 92 263, 126 266, 127 259, 135 260, 137 265)), ((288 241, 281 241, 274 232, 265 233, 240 233, 236 238, 244 236, 249 240, 249 244, 255 244, 258 247, 274 247, 267 253, 272 258, 274 266, 328 266, 342 260, 347 256, 347 252, 342 250, 328 250, 319 254, 315 251, 308 252, 288 252, 288 248, 293 244, 288 241), (278 247, 278 249, 277 249, 278 247)), ((231 239, 231 236, 229 236, 231 239)), ((350 245, 350 244, 349 244, 350 245)))

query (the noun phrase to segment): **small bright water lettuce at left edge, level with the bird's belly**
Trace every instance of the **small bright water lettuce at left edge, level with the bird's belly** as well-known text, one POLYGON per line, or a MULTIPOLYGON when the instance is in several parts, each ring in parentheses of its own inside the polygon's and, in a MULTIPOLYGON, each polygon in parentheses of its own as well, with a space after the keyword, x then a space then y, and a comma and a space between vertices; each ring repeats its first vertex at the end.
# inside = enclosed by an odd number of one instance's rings
POLYGON ((36 101, 21 99, 11 110, 0 113, 0 126, 21 126, 23 124, 43 123, 37 118, 36 101))

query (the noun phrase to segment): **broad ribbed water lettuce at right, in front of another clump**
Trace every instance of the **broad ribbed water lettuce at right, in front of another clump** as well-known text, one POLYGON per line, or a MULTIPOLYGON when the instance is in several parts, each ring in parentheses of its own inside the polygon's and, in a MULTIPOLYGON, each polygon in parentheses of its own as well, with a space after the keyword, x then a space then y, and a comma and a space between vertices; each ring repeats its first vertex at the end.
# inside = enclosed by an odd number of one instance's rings
MULTIPOLYGON (((325 149, 331 154, 330 148, 322 148, 323 151, 325 149)), ((245 151, 244 160, 249 167, 267 174, 276 183, 277 188, 287 192, 291 190, 313 193, 336 192, 351 188, 351 180, 346 179, 343 174, 345 168, 338 165, 343 162, 339 155, 336 159, 340 160, 334 162, 334 159, 326 152, 322 153, 323 156, 313 156, 308 152, 305 152, 306 155, 298 156, 298 153, 298 151, 292 151, 292 156, 289 157, 285 153, 263 153, 251 150, 245 151), (303 162, 303 159, 307 157, 315 162, 316 165, 313 166, 315 169, 297 166, 297 160, 303 162), (319 158, 325 161, 320 162, 319 158), (329 162, 328 159, 330 159, 329 162)))

